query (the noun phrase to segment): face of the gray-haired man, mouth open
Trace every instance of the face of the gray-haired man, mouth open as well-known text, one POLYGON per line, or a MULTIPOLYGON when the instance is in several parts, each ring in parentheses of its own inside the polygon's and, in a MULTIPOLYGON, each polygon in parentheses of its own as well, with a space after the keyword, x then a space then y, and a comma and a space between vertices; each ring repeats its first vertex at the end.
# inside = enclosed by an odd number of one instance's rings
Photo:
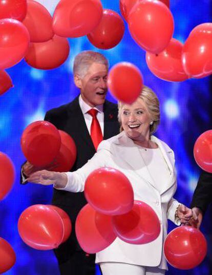
POLYGON ((107 94, 107 67, 100 63, 93 63, 83 78, 75 81, 80 89, 82 99, 91 107, 103 104, 107 94))

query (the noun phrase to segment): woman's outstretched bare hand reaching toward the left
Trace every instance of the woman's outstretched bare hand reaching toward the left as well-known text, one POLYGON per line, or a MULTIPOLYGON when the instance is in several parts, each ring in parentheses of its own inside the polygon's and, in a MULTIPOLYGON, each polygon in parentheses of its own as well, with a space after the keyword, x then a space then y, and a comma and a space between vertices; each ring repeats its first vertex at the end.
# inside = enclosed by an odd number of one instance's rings
POLYGON ((42 185, 54 184, 56 188, 63 188, 68 182, 68 177, 65 173, 41 170, 31 174, 27 180, 42 185))

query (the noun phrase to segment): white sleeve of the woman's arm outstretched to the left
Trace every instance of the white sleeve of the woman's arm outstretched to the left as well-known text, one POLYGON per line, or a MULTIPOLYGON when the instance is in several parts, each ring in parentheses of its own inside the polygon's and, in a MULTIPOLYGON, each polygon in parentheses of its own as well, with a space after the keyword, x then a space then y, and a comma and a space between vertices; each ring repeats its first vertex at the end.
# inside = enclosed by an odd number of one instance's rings
POLYGON ((110 146, 108 142, 105 140, 102 141, 98 146, 97 153, 95 153, 95 155, 86 164, 75 172, 65 173, 68 177, 68 182, 67 185, 64 188, 60 188, 60 190, 74 193, 83 192, 84 184, 89 174, 97 168, 107 166, 107 160, 111 156, 109 148, 110 146))

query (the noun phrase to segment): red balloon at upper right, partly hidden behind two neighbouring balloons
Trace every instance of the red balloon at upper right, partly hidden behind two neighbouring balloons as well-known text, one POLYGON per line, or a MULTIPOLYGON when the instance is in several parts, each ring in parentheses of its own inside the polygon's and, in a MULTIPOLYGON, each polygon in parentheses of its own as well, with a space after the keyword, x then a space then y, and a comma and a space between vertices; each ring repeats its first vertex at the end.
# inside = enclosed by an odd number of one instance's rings
POLYGON ((172 38, 168 46, 159 54, 146 52, 146 63, 150 71, 166 81, 184 81, 188 79, 182 63, 183 44, 172 38))

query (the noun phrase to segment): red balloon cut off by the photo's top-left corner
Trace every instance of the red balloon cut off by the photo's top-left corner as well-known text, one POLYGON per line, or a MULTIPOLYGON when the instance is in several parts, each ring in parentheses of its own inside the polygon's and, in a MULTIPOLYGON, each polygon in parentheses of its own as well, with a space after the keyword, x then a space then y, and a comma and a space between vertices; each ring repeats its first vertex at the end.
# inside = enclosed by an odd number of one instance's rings
POLYGON ((0 0, 0 19, 22 21, 27 14, 27 0, 0 0))

